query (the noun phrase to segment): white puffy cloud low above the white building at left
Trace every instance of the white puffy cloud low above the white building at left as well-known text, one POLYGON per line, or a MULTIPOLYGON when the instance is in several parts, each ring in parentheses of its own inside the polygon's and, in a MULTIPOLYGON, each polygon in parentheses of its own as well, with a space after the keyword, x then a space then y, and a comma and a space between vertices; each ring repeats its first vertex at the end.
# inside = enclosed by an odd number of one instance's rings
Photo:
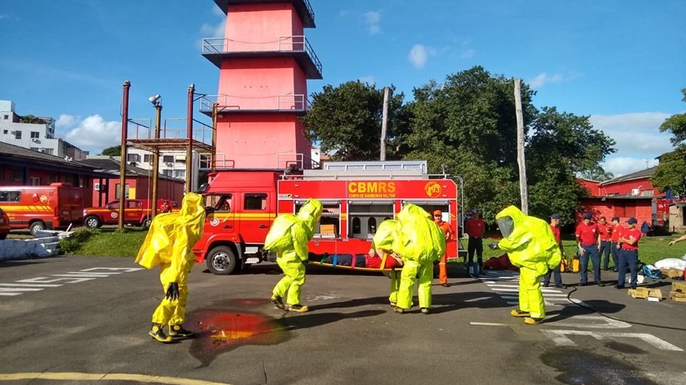
POLYGON ((64 138, 82 150, 99 153, 103 148, 121 143, 121 122, 105 121, 102 116, 91 115, 79 121, 64 138))

